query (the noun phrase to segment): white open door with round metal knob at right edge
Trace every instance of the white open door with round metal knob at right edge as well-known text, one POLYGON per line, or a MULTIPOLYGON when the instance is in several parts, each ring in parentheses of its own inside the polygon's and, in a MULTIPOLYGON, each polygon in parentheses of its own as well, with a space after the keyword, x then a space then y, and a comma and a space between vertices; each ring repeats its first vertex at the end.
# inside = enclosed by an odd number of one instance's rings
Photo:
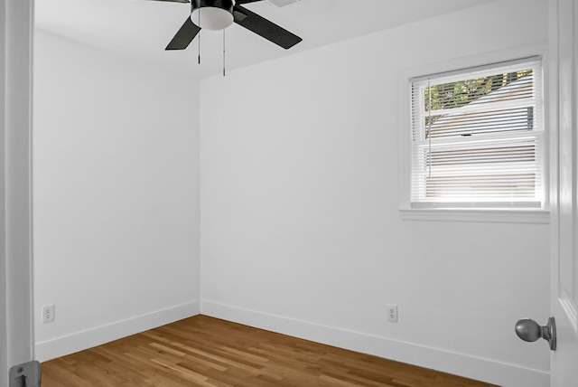
POLYGON ((551 386, 578 385, 578 1, 550 1, 551 386))

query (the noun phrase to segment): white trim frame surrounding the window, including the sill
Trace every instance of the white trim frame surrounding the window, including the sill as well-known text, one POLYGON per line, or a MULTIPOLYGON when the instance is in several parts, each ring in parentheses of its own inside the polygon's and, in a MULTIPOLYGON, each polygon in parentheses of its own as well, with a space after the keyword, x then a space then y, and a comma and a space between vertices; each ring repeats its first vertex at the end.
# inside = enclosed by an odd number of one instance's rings
MULTIPOLYGON (((411 205, 411 146, 412 146, 412 111, 411 80, 444 72, 470 69, 503 61, 516 61, 520 58, 542 57, 544 74, 548 74, 547 46, 529 44, 508 50, 484 52, 477 55, 422 64, 415 68, 401 71, 399 76, 399 193, 400 213, 408 221, 448 221, 448 222, 513 222, 513 223, 549 223, 549 168, 544 170, 544 208, 536 209, 452 209, 452 208, 413 208, 411 205)), ((544 100, 548 100, 549 79, 544 77, 544 100)), ((548 104, 544 106, 544 159, 549 163, 548 104)))

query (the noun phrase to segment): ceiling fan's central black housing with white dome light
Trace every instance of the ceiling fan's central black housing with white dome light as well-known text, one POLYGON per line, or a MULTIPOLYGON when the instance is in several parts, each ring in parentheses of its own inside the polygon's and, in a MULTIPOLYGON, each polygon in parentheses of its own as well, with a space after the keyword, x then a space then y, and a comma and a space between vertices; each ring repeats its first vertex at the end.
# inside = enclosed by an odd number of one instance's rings
POLYGON ((233 24, 232 0, 192 0, 191 21, 202 29, 219 31, 233 24))

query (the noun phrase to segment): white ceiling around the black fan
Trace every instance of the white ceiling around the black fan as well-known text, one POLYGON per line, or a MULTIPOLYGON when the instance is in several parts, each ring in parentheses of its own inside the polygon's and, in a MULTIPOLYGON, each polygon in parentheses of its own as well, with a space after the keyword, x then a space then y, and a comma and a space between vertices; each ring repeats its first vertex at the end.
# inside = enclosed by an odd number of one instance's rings
MULTIPOLYGON (((301 0, 277 7, 268 0, 245 5, 303 38, 285 51, 233 24, 227 29, 227 68, 244 67, 340 42, 396 25, 494 0, 301 0)), ((146 0, 36 0, 36 27, 166 69, 205 77, 222 71, 221 32, 201 32, 184 51, 164 47, 190 14, 191 5, 146 0)))

